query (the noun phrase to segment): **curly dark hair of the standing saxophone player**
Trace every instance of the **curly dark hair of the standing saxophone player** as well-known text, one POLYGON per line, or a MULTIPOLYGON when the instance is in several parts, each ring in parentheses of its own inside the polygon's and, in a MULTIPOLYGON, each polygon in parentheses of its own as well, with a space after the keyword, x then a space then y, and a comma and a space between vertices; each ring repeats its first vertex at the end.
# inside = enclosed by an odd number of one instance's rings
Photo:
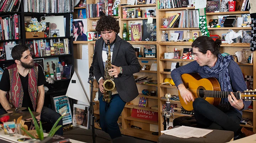
POLYGON ((119 33, 120 27, 116 21, 116 18, 111 16, 102 16, 96 25, 96 31, 100 34, 103 31, 113 30, 116 33, 119 33))

